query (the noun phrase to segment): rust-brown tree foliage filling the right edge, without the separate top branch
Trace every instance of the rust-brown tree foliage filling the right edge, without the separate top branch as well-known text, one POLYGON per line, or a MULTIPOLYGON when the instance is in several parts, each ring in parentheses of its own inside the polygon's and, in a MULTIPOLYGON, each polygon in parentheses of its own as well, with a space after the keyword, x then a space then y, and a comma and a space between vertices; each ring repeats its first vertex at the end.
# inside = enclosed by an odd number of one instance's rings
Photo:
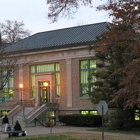
MULTIPOLYGON (((108 27, 108 31, 96 40, 94 48, 105 59, 110 58, 107 70, 113 68, 113 71, 109 71, 104 80, 115 78, 117 83, 114 86, 110 83, 108 85, 108 89, 117 86, 112 91, 113 98, 110 103, 124 109, 140 107, 139 4, 136 0, 109 0, 107 5, 98 7, 98 10, 110 11, 109 16, 113 17, 114 26, 108 27)), ((96 56, 100 59, 98 53, 96 56)))

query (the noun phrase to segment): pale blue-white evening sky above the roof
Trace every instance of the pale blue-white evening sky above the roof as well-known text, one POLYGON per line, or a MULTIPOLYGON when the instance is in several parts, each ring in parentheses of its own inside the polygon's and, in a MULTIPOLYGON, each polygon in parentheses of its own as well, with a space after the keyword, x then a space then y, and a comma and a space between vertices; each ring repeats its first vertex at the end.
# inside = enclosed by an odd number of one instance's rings
POLYGON ((30 30, 31 35, 84 24, 111 22, 107 12, 99 12, 95 8, 106 1, 93 0, 93 8, 81 7, 73 19, 59 18, 56 23, 51 23, 47 18, 46 0, 0 0, 0 22, 4 23, 5 20, 23 21, 24 28, 30 30))

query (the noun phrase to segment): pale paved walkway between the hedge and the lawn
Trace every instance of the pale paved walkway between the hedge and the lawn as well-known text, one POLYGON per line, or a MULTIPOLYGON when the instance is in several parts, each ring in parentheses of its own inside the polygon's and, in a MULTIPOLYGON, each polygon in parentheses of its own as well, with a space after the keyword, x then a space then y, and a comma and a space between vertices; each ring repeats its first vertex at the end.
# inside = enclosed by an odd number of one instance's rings
MULTIPOLYGON (((101 134, 101 132, 97 132, 97 131, 87 131, 88 129, 91 129, 91 127, 71 127, 71 126, 54 126, 53 128, 48 128, 48 127, 42 127, 42 126, 37 126, 37 127, 26 127, 23 128, 23 130, 27 131, 27 135, 31 136, 31 135, 38 135, 38 134, 50 134, 52 133, 65 133, 65 132, 78 132, 78 133, 98 133, 101 134)), ((134 138, 136 140, 140 140, 140 136, 137 135, 131 135, 131 134, 118 134, 118 133, 108 133, 105 132, 105 135, 112 135, 112 136, 124 136, 124 137, 128 137, 128 138, 134 138)), ((1 133, 1 140, 3 138, 7 138, 8 134, 2 134, 1 133)))

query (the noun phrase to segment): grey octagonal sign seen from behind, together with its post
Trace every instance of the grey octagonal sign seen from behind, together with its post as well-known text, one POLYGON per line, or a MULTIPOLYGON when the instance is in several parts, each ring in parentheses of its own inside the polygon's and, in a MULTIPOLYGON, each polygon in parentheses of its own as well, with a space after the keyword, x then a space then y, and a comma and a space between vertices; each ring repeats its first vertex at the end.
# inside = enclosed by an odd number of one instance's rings
POLYGON ((98 112, 102 115, 102 140, 104 140, 104 115, 108 111, 108 105, 105 101, 100 101, 97 106, 98 112))

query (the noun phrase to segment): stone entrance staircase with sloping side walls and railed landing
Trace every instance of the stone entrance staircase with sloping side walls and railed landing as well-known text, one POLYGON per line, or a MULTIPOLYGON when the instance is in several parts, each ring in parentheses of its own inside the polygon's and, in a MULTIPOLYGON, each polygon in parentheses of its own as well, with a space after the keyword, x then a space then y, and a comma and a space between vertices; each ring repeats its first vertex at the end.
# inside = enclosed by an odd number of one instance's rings
MULTIPOLYGON (((25 107, 17 104, 7 114, 10 126, 14 126, 16 120, 19 121, 22 127, 44 126, 46 121, 49 121, 50 108, 57 110, 57 104, 49 103, 37 107, 25 107)), ((2 122, 3 118, 0 118, 2 122)))

